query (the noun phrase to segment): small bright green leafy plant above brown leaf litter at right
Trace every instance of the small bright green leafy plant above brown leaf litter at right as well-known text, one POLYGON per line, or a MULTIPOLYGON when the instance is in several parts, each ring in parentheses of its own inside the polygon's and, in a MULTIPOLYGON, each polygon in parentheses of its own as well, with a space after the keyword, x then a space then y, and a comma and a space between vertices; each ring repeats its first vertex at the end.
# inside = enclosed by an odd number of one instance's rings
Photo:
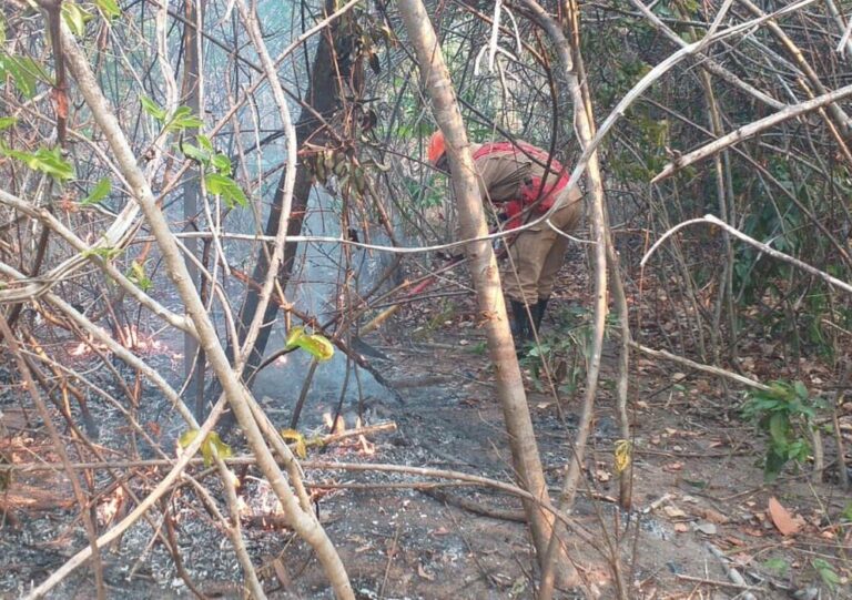
POLYGON ((802 464, 811 455, 810 431, 822 404, 801 382, 772 382, 769 389, 750 391, 742 416, 769 435, 763 475, 774 481, 789 461, 802 464))

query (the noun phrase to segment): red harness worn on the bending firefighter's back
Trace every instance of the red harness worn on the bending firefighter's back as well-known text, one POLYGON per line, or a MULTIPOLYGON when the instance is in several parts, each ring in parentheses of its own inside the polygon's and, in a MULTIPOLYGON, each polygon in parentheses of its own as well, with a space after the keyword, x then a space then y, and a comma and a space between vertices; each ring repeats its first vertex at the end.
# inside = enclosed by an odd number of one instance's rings
MULTIPOLYGON (((532 160, 547 164, 550 157, 544 150, 530 145, 526 142, 494 142, 490 144, 484 144, 479 150, 474 153, 474 160, 481 159, 488 154, 506 153, 506 154, 523 154, 524 156, 531 156, 532 160)), ((534 205, 532 212, 535 214, 542 215, 554 206, 556 196, 565 190, 568 185, 570 177, 565 171, 565 167, 557 160, 550 161, 550 172, 547 174, 546 184, 541 185, 541 176, 535 175, 525 181, 519 190, 518 197, 503 202, 500 207, 508 217, 505 224, 507 230, 514 230, 521 224, 520 214, 524 209, 534 205), (552 173, 558 173, 555 176, 552 173)))

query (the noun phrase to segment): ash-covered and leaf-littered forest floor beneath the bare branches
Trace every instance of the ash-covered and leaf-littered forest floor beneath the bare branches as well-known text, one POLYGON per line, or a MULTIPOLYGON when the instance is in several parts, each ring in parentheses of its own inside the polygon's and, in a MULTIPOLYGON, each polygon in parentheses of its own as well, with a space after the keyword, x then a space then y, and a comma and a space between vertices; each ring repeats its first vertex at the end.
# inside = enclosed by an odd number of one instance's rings
MULTIPOLYGON (((560 327, 570 325, 571 318, 576 323, 576 307, 588 305, 582 277, 566 274, 546 319, 550 332, 564 332, 560 327)), ((483 353, 484 335, 474 325, 474 315, 470 297, 453 297, 412 307, 383 334, 371 337, 369 342, 390 358, 376 365, 384 377, 395 383, 396 397, 366 386, 365 420, 367 425, 394 421, 397 431, 373 437, 373 455, 365 454, 359 441, 349 440, 311 450, 308 458, 449 469, 510 481, 511 461, 501 411, 483 353)), ((580 339, 578 332, 574 329, 580 339)), ((576 378, 571 357, 576 353, 569 356, 569 349, 562 347, 568 353, 564 357, 567 368, 557 369, 564 390, 561 419, 555 400, 537 390, 535 360, 524 363, 529 406, 555 495, 570 456, 581 396, 581 375, 579 385, 571 385, 576 378)), ((719 379, 635 356, 630 379, 637 451, 635 506, 629 513, 618 508, 618 480, 612 466, 618 435, 612 414, 611 355, 610 348, 601 376, 586 485, 574 515, 600 547, 589 548, 569 537, 585 591, 565 592, 560 598, 582 598, 584 593, 612 598, 606 548, 616 545, 630 586, 629 598, 724 599, 743 592, 768 599, 852 598, 852 532, 849 521, 841 519, 849 496, 831 480, 831 469, 826 481, 820 484, 810 482, 805 467, 800 474, 788 469, 777 482, 764 485, 759 466, 763 439, 739 416, 741 390, 726 389, 719 379), (768 513, 770 498, 775 498, 798 522, 797 532, 781 535, 768 513), (748 590, 731 582, 723 562, 743 574, 748 590)), ((164 356, 148 358, 174 372, 176 367, 164 356)), ((97 378, 99 373, 90 376, 97 378)), ((828 378, 824 373, 822 376, 828 378)), ((104 385, 118 394, 114 385, 104 385)), ((255 393, 264 397, 276 423, 285 426, 300 385, 292 372, 274 366, 258 380, 255 393)), ((55 460, 34 411, 20 408, 21 390, 8 385, 3 390, 3 455, 14 462, 55 460)), ((310 397, 305 408, 304 430, 308 435, 320 433, 320 415, 335 404, 331 394, 318 396, 310 397)), ((106 457, 113 456, 111 447, 125 450, 122 440, 126 431, 109 425, 120 423, 116 410, 97 397, 90 401, 92 410, 103 415, 99 417, 99 443, 106 457)), ((349 403, 345 415, 349 427, 354 425, 353 414, 349 403)), ((844 418, 850 419, 850 415, 844 418)), ((180 426, 165 420, 162 399, 153 389, 144 391, 140 423, 173 451, 180 426)), ((140 451, 146 456, 144 447, 140 451)), ((830 459, 831 451, 828 455, 830 459)), ((201 471, 199 467, 193 472, 201 471)), ((131 487, 138 494, 153 486, 152 468, 133 472, 131 487)), ((241 475, 242 495, 250 510, 270 510, 268 495, 257 472, 248 469, 241 475)), ((534 597, 536 567, 525 527, 506 518, 517 516, 520 505, 516 499, 470 487, 439 488, 443 496, 436 498, 422 490, 400 489, 399 484, 424 480, 404 474, 307 468, 305 475, 314 484, 338 486, 316 492, 318 511, 359 598, 534 597), (459 499, 499 515, 459 508, 459 499)), ((104 474, 98 474, 92 485, 106 481, 104 474)), ((212 478, 209 484, 217 490, 212 478)), ((103 520, 110 500, 114 501, 114 495, 101 499, 103 520)), ((8 509, 0 533, 3 597, 17 597, 31 582, 42 581, 85 545, 72 505, 63 476, 49 471, 16 474, 3 492, 2 506, 8 509)), ((170 505, 176 516, 175 536, 184 567, 193 581, 206 596, 240 597, 240 568, 211 517, 186 488, 174 492, 170 505)), ((152 539, 153 528, 162 525, 159 516, 151 522, 138 523, 104 553, 113 597, 191 596, 164 546, 152 539)), ((316 560, 285 528, 260 519, 244 519, 243 527, 270 597, 332 597, 316 560)), ((52 597, 92 594, 91 572, 81 569, 52 597)))

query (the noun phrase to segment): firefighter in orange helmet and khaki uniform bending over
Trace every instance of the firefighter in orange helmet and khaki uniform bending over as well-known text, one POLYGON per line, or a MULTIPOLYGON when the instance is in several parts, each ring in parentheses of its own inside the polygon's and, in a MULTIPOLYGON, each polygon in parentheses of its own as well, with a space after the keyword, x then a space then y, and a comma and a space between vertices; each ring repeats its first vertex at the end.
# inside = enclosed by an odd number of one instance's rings
MULTIPOLYGON (((546 151, 525 142, 491 142, 473 144, 471 152, 479 194, 494 206, 504 230, 535 221, 562 199, 565 205, 550 222, 566 233, 577 225, 582 195, 578 187, 568 187, 568 173, 556 160, 548 161, 546 151)), ((429 139, 428 159, 449 172, 440 130, 429 139)), ((509 260, 501 277, 511 306, 511 333, 520 345, 534 339, 541 325, 568 240, 541 222, 509 236, 507 243, 509 260)))

